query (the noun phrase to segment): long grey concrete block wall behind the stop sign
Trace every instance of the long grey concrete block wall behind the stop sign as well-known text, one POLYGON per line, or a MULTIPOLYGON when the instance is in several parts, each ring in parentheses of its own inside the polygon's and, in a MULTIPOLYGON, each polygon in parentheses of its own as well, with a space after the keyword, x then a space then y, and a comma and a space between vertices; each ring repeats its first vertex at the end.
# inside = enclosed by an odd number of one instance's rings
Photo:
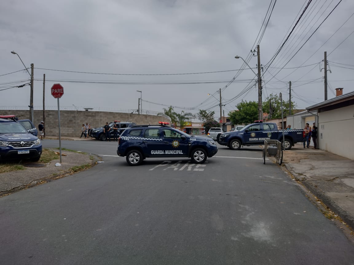
MULTIPOLYGON (((1 110, 0 115, 16 115, 18 119, 28 119, 29 110, 1 110)), ((35 110, 34 124, 38 128, 38 124, 43 120, 43 111, 35 110)), ((58 111, 45 111, 45 134, 47 136, 58 136, 58 111)), ((91 128, 96 128, 110 123, 114 120, 121 122, 135 122, 139 124, 158 124, 158 122, 171 122, 164 116, 148 115, 148 114, 131 114, 120 112, 104 112, 104 111, 60 111, 60 131, 62 136, 79 137, 81 135, 81 125, 88 122, 91 128)))

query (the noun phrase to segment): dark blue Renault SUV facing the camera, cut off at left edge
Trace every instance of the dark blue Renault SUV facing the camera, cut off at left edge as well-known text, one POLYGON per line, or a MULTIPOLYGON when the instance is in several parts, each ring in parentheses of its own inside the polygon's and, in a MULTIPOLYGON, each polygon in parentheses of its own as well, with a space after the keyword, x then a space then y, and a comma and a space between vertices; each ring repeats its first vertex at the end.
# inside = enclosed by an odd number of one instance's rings
POLYGON ((0 160, 38 161, 41 154, 38 137, 29 133, 14 115, 0 116, 0 160))

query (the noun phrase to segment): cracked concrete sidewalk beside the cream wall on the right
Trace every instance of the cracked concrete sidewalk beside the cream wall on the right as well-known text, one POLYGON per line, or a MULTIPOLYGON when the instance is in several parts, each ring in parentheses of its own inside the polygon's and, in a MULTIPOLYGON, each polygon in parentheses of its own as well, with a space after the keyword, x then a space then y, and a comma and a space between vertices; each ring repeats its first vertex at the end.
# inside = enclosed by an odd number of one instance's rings
POLYGON ((284 152, 292 176, 354 229, 354 160, 296 143, 284 152))

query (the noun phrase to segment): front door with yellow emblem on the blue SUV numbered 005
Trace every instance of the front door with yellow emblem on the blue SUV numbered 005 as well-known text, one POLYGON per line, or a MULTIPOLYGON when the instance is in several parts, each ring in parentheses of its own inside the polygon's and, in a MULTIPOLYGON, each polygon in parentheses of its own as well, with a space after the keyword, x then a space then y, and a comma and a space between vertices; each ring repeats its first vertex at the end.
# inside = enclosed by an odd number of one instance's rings
POLYGON ((166 157, 188 157, 189 137, 169 128, 162 128, 162 135, 166 157))

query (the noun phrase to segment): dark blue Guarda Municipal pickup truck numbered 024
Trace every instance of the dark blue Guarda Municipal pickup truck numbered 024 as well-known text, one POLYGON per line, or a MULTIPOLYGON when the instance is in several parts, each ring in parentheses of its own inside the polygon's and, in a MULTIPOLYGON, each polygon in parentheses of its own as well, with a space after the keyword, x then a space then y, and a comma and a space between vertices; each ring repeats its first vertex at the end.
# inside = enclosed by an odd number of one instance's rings
POLYGON ((239 131, 229 131, 219 134, 219 145, 228 146, 230 149, 239 150, 241 146, 264 145, 264 140, 279 140, 283 142, 285 150, 291 149, 297 142, 302 142, 302 129, 278 130, 275 123, 252 123, 239 131))

